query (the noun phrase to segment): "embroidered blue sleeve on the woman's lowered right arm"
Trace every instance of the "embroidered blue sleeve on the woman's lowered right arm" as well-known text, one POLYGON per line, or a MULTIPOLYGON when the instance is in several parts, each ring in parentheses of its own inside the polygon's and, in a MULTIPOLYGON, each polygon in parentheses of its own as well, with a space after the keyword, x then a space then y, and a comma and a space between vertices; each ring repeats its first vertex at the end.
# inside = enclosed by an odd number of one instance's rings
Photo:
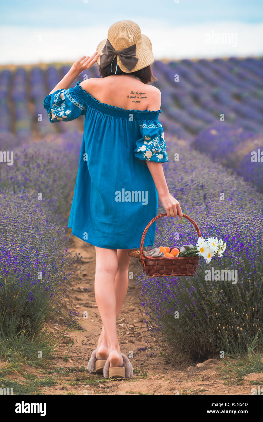
POLYGON ((142 161, 168 162, 163 127, 157 121, 138 121, 141 139, 136 141, 135 157, 142 161))

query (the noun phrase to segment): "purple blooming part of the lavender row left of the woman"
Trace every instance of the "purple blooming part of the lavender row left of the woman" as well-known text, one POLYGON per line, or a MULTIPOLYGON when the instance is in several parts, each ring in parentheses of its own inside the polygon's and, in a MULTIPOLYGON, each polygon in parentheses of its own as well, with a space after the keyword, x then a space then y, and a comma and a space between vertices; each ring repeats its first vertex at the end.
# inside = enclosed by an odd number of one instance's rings
POLYGON ((6 276, 28 293, 38 284, 50 297, 68 280, 66 215, 80 144, 79 133, 74 142, 58 135, 16 148, 13 165, 1 164, 0 295, 6 276))

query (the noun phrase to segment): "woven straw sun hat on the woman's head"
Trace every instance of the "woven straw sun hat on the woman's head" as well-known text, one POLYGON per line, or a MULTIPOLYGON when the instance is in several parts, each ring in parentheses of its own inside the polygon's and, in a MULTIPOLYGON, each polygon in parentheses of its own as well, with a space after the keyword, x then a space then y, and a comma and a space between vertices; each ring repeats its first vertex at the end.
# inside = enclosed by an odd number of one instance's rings
POLYGON ((125 73, 136 72, 154 62, 151 41, 141 33, 139 25, 129 20, 112 24, 108 38, 99 43, 96 51, 101 53, 97 60, 101 67, 117 56, 117 65, 125 73))

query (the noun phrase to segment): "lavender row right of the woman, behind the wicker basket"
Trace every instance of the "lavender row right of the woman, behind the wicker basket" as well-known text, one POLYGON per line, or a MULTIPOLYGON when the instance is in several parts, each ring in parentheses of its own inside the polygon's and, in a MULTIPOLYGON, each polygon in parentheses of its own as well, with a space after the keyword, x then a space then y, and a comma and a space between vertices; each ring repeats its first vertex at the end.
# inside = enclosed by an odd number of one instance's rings
MULTIPOLYGON (((195 359, 217 355, 218 349, 246 354, 253 341, 257 347, 263 344, 263 195, 207 155, 168 135, 166 139, 165 178, 171 195, 204 238, 222 238, 227 249, 209 265, 200 260, 193 277, 139 277, 149 329, 158 330, 174 353, 195 359), (213 279, 213 270, 233 271, 237 279, 213 279)), ((187 220, 164 217, 157 222, 155 246, 195 245, 197 240, 187 220)))

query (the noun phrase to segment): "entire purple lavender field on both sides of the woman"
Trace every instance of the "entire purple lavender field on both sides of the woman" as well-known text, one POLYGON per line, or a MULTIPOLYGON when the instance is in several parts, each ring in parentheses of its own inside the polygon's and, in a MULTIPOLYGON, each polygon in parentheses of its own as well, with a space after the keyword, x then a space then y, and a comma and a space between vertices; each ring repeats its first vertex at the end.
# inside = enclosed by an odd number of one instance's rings
MULTIPOLYGON (((0 151, 14 151, 13 165, 0 162, 0 354, 1 347, 4 354, 23 345, 31 356, 31 338, 70 277, 66 217, 84 122, 50 124, 43 108, 68 70, 0 72, 0 151), (8 292, 19 295, 7 300, 8 292), (14 315, 12 323, 6 314, 14 315)), ((144 312, 171 347, 194 357, 262 351, 263 59, 157 61, 153 70, 169 190, 202 235, 222 238, 227 250, 221 260, 201 262, 191 278, 152 282, 142 274, 136 282, 144 312), (204 281, 212 266, 237 270, 238 282, 204 281), (176 310, 182 318, 175 325, 176 310)), ((95 67, 85 73, 98 76, 95 67)), ((159 246, 174 243, 175 232, 181 244, 198 240, 186 221, 159 219, 156 230, 159 246)))

